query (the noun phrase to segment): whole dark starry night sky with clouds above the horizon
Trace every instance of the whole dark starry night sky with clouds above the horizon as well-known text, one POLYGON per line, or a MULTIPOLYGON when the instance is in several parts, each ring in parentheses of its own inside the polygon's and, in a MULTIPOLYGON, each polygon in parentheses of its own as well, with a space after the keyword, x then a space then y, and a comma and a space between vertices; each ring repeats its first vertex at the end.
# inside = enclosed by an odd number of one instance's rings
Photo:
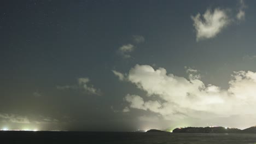
POLYGON ((254 5, 1 1, 0 129, 256 125, 254 5))

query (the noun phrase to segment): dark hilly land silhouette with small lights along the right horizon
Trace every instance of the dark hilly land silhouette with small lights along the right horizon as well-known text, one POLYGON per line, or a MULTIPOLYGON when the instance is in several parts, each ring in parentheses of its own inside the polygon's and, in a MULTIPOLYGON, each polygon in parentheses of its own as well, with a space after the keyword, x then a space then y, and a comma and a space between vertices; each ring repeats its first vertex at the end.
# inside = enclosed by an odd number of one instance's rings
MULTIPOLYGON (((169 131, 162 131, 157 129, 150 129, 146 131, 147 133, 163 133, 169 131)), ((247 129, 237 129, 237 128, 226 128, 226 127, 185 127, 176 128, 172 130, 172 133, 220 133, 220 134, 234 134, 234 133, 252 133, 256 134, 256 126, 247 129)))

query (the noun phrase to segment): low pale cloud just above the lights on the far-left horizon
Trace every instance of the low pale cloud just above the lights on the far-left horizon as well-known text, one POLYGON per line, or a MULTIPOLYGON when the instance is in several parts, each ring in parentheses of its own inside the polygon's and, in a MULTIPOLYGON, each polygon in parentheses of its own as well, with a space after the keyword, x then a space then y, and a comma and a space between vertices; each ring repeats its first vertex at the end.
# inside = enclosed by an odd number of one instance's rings
POLYGON ((0 113, 0 118, 2 118, 5 122, 30 123, 26 116, 15 115, 13 113, 0 113))

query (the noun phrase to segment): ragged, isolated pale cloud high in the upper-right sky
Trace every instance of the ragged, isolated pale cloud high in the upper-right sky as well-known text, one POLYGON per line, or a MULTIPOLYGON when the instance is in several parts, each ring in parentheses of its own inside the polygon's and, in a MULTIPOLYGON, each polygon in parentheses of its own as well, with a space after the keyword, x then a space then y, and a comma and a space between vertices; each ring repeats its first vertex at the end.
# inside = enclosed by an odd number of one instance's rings
POLYGON ((230 22, 226 10, 216 8, 213 11, 207 9, 205 14, 191 16, 193 26, 196 30, 196 40, 215 37, 230 22))

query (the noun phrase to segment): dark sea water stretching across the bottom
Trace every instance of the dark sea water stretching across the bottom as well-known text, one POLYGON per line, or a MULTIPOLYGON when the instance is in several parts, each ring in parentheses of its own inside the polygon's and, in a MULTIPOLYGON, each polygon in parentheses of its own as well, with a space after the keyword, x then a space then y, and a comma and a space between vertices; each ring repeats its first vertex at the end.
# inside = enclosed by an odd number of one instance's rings
POLYGON ((0 143, 256 143, 256 134, 0 131, 0 143))

